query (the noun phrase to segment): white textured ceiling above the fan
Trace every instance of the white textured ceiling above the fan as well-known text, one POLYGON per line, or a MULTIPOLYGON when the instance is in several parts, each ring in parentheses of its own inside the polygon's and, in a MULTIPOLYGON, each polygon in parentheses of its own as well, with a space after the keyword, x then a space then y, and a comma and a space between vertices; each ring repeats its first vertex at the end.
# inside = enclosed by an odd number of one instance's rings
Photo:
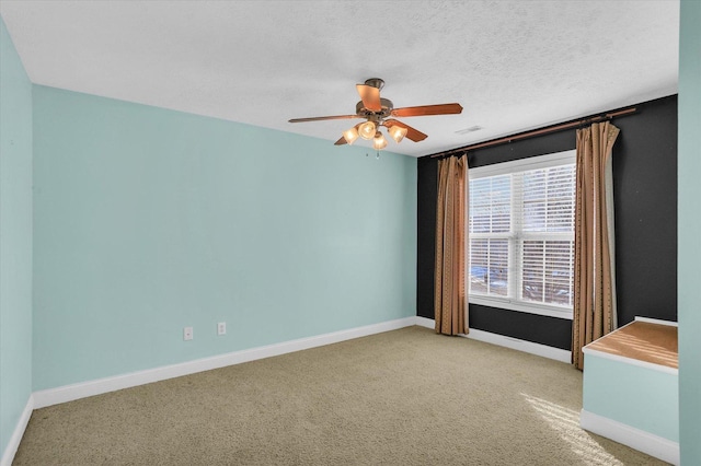
POLYGON ((367 78, 395 107, 459 102, 403 119, 428 138, 388 150, 414 156, 677 92, 678 0, 2 0, 0 14, 36 84, 330 144, 356 120, 287 120, 355 113, 367 78))

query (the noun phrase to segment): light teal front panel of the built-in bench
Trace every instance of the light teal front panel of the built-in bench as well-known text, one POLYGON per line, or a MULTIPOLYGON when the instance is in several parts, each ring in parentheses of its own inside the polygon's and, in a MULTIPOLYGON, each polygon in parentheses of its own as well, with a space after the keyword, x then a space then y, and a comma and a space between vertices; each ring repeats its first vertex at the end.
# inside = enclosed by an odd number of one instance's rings
POLYGON ((678 376, 586 354, 582 407, 679 442, 678 376))

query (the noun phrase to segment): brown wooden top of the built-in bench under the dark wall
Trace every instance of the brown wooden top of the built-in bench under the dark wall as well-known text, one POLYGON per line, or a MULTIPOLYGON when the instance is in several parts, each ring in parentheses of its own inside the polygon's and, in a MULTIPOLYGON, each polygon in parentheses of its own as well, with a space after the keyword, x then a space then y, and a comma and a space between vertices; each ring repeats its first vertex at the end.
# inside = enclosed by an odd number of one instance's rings
POLYGON ((679 369, 677 327, 634 321, 590 342, 586 348, 679 369))

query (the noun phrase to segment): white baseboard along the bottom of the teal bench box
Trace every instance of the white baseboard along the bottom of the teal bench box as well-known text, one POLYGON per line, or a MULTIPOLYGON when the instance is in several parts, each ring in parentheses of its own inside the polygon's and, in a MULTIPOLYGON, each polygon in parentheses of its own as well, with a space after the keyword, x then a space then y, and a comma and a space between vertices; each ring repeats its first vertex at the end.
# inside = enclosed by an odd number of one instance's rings
POLYGON ((579 415, 579 427, 664 462, 679 465, 678 442, 673 442, 584 409, 579 415))

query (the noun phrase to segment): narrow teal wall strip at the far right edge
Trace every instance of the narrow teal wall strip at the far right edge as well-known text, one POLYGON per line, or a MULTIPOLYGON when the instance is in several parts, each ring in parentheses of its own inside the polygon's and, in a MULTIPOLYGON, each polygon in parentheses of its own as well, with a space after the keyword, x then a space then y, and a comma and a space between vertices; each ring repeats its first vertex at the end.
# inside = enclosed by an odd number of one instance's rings
POLYGON ((701 464, 701 2, 681 1, 679 40, 679 403, 682 465, 701 464))

